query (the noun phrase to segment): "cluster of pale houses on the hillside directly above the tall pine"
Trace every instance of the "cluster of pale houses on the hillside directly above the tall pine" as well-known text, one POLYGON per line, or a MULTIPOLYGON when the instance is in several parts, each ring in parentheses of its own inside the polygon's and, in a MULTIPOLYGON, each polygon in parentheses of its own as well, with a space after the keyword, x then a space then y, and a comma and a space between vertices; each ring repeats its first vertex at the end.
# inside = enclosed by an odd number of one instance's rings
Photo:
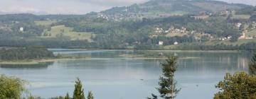
POLYGON ((156 28, 154 33, 186 33, 186 28, 182 27, 181 29, 179 28, 174 28, 173 26, 168 29, 163 29, 163 28, 156 28))

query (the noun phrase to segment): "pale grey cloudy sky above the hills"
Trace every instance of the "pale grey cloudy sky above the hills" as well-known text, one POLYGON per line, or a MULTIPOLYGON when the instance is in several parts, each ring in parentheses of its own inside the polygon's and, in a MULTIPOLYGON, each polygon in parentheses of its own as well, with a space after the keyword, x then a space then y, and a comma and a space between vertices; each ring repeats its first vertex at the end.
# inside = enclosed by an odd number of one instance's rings
MULTIPOLYGON (((85 14, 149 0, 0 0, 1 13, 85 14)), ((256 6, 256 0, 219 0, 256 6)))

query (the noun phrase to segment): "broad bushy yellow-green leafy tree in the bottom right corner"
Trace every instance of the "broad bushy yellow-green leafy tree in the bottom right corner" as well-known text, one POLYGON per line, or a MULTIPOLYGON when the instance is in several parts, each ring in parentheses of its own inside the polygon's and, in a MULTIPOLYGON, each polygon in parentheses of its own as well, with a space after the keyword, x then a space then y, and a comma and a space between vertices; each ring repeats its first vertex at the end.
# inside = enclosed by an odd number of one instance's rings
POLYGON ((256 76, 248 75, 245 72, 226 74, 223 81, 220 81, 216 88, 214 99, 252 99, 256 98, 256 76))

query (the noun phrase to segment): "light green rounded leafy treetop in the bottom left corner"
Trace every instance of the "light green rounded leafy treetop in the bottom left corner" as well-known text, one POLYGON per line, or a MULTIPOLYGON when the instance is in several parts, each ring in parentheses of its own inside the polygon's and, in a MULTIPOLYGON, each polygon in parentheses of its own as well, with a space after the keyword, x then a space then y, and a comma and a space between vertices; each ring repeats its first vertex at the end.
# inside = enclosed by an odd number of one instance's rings
POLYGON ((26 92, 25 83, 20 78, 0 75, 0 98, 21 98, 21 94, 26 92))

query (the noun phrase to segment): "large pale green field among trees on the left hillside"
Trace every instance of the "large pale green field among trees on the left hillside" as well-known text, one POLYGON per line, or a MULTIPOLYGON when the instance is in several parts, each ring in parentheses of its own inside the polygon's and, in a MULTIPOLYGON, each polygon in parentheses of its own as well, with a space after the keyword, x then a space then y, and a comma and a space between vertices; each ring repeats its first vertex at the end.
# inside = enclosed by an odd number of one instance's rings
POLYGON ((92 33, 86 32, 74 32, 73 28, 66 27, 65 25, 53 26, 50 31, 43 32, 42 37, 58 37, 67 36, 70 40, 88 40, 92 42, 91 37, 94 36, 92 33))

